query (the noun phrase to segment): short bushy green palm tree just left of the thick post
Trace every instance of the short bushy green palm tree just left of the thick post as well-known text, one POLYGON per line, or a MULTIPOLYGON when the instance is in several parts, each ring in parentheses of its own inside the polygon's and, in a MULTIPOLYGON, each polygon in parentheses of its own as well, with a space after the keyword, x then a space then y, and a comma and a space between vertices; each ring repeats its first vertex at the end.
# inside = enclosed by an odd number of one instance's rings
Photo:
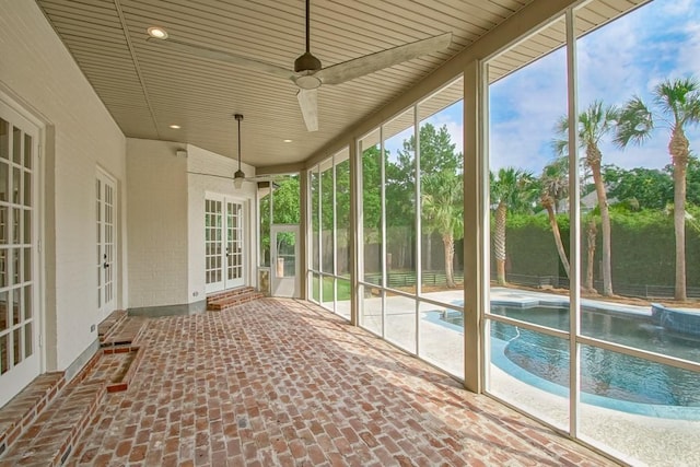
POLYGON ((428 230, 442 236, 445 250, 445 279, 454 288, 455 236, 464 232, 463 178, 459 174, 442 171, 430 175, 432 189, 423 195, 423 220, 428 230))

